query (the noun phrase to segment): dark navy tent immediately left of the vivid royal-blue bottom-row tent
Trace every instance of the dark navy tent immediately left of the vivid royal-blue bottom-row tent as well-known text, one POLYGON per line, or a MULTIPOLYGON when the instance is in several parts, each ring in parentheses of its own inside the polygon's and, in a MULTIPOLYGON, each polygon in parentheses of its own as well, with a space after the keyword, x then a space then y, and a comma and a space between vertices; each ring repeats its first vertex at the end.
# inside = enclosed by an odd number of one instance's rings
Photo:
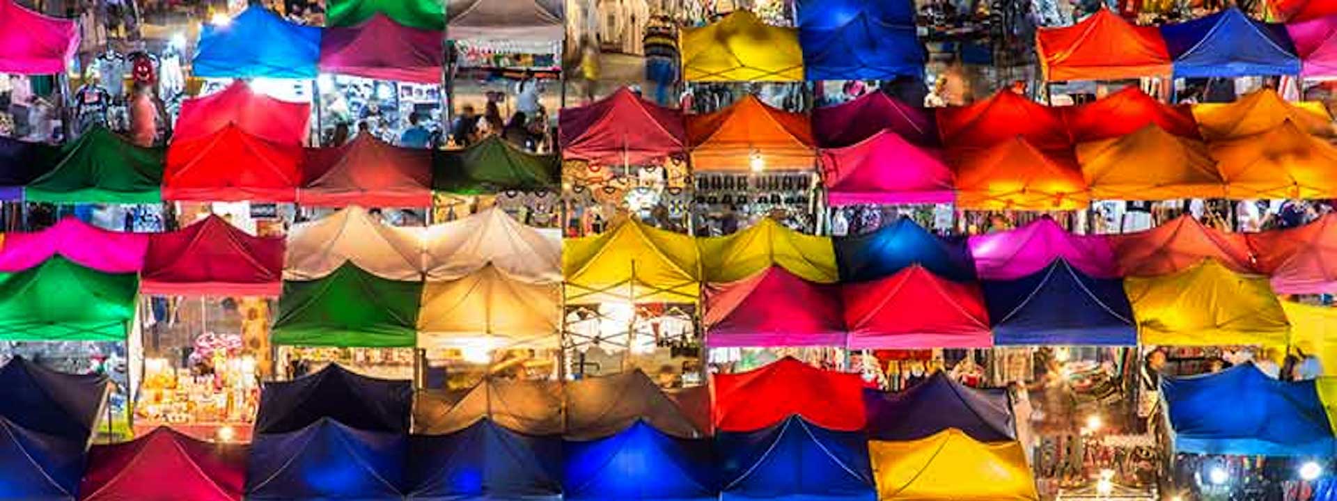
POLYGON ((445 436, 409 441, 414 500, 562 498, 562 438, 515 433, 480 420, 445 436))

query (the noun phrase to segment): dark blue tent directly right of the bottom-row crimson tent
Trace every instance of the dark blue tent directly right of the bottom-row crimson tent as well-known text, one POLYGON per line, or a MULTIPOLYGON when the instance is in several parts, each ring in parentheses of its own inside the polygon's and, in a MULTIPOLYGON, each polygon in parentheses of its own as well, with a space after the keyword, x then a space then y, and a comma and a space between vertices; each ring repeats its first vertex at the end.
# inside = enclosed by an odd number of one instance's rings
POLYGON ((401 500, 408 436, 318 420, 259 434, 246 468, 247 500, 401 500))

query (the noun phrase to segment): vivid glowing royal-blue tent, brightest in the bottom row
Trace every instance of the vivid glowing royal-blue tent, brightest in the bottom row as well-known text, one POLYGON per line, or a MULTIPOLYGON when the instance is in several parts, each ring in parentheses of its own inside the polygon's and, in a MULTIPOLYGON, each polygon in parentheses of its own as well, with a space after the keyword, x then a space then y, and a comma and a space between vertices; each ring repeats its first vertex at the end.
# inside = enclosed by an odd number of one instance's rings
POLYGON ((706 438, 675 438, 638 421, 612 437, 567 441, 564 448, 564 500, 707 501, 719 496, 706 438))

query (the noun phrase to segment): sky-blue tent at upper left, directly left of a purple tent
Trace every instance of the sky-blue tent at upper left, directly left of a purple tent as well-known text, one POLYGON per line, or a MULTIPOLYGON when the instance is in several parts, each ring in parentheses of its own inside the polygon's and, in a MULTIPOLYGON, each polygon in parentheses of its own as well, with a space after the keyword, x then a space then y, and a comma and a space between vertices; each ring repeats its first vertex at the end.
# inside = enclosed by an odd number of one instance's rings
POLYGON ((203 77, 314 79, 321 28, 293 24, 261 5, 199 32, 191 73, 203 77))

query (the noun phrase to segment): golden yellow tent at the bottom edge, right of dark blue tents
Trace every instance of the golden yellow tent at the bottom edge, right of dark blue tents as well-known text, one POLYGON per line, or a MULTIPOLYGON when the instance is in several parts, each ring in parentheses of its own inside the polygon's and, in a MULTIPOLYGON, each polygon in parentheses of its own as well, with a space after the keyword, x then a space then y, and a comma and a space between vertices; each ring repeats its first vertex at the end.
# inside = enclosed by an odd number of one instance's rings
POLYGON ((955 428, 908 442, 868 442, 877 498, 1039 500, 1019 442, 977 442, 955 428))

